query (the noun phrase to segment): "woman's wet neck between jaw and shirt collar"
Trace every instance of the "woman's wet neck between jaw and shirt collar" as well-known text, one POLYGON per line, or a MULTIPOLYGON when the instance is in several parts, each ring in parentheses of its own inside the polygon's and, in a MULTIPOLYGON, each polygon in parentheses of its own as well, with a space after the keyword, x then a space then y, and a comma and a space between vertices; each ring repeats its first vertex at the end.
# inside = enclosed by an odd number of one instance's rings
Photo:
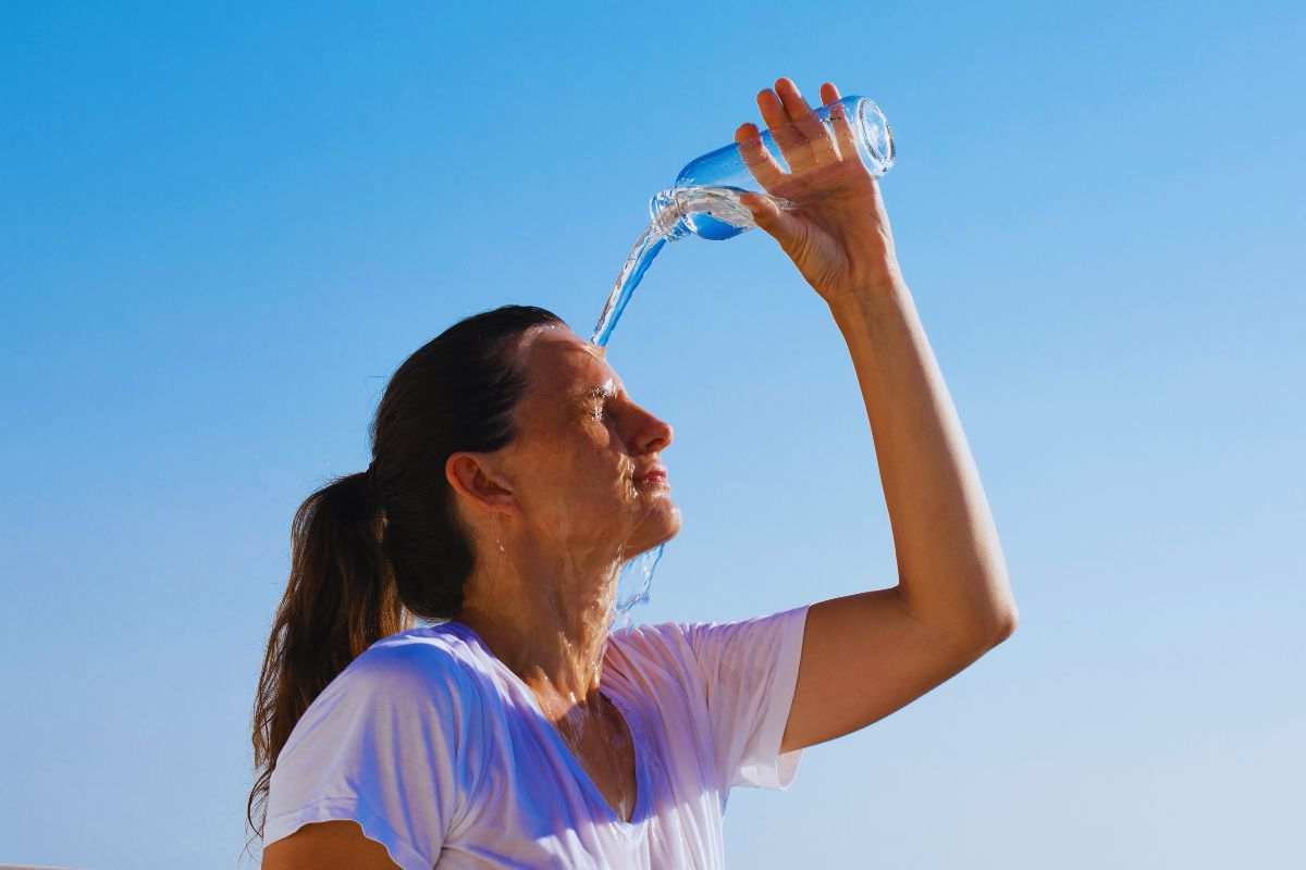
POLYGON ((556 721, 597 699, 620 557, 586 563, 513 544, 492 552, 496 558, 469 579, 458 621, 481 635, 556 721))

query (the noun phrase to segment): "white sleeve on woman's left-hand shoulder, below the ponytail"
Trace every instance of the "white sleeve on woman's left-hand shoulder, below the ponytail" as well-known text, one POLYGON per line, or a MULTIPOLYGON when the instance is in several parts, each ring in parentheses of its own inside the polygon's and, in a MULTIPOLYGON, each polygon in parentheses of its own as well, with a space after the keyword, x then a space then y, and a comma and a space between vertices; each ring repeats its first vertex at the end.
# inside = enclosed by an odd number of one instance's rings
POLYGON ((354 820, 402 870, 430 870, 474 783, 468 691, 440 647, 374 646, 313 700, 277 758, 264 841, 354 820))

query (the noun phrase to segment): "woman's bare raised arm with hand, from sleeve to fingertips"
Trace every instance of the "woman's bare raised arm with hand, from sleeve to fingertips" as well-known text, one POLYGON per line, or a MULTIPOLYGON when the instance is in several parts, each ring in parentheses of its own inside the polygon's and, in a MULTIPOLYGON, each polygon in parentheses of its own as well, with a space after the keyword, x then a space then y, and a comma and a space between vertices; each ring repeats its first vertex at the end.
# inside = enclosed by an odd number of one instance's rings
MULTIPOLYGON (((831 83, 821 99, 838 100, 831 83)), ((899 583, 814 604, 782 750, 840 737, 919 698, 1007 638, 1016 605, 980 473, 893 250, 879 185, 846 120, 831 133, 788 78, 757 97, 790 172, 751 124, 735 140, 763 187, 744 197, 829 305, 866 403, 899 583), (784 128, 784 132, 777 132, 784 128)))

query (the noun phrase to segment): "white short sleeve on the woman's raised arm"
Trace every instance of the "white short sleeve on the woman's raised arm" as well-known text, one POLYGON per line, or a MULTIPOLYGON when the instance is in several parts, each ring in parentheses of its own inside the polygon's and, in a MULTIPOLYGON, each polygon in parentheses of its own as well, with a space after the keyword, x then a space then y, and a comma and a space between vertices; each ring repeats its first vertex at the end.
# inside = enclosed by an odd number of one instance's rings
POLYGON ((741 622, 684 626, 708 699, 726 788, 786 788, 801 750, 780 753, 798 683, 807 607, 741 622))

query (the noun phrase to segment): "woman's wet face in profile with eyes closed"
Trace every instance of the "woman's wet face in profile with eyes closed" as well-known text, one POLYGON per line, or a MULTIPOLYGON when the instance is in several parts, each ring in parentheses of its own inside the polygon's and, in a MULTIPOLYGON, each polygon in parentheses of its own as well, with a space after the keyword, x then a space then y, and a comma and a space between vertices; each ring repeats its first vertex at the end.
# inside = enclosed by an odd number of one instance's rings
POLYGON ((504 470, 532 532, 585 562, 626 560, 680 530, 663 470, 671 427, 633 402, 603 348, 565 326, 528 330, 528 386, 504 470))

